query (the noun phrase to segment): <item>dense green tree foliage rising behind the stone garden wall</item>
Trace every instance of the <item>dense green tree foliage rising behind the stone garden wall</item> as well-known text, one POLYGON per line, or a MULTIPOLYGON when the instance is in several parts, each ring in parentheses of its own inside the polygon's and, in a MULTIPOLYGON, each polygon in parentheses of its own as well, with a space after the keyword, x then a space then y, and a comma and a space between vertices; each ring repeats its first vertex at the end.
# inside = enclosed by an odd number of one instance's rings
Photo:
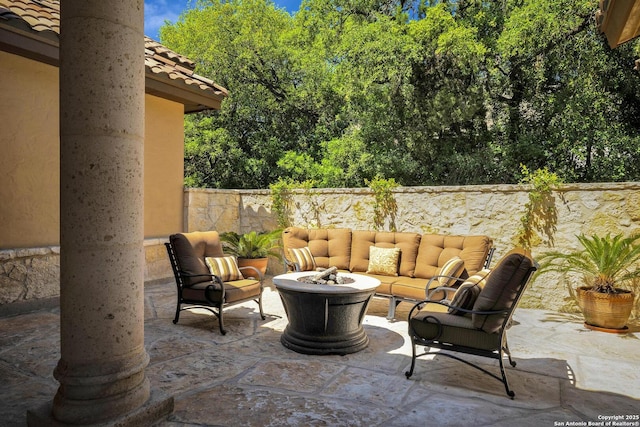
POLYGON ((186 184, 640 179, 640 55, 593 0, 208 0, 161 41, 229 90, 186 118, 186 184))

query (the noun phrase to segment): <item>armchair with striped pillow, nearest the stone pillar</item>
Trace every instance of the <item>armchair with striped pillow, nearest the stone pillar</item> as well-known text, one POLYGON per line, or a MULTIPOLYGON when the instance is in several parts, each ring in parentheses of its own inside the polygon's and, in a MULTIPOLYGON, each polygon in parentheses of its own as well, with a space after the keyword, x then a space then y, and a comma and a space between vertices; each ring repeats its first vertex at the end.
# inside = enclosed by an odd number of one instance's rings
POLYGON ((235 259, 223 253, 218 232, 173 234, 165 246, 178 290, 174 324, 182 310, 203 308, 218 318, 225 335, 223 308, 249 300, 258 304, 265 319, 262 274, 254 267, 238 268, 235 259))

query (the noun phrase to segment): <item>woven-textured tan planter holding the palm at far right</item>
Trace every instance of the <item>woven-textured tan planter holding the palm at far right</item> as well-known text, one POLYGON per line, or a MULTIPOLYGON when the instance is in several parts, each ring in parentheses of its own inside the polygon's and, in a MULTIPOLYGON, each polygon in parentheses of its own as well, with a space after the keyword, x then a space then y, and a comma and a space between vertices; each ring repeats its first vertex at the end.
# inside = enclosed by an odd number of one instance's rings
POLYGON ((588 287, 577 289, 578 303, 586 326, 594 326, 611 332, 627 329, 626 324, 633 309, 635 295, 625 291, 619 294, 590 292, 588 287))

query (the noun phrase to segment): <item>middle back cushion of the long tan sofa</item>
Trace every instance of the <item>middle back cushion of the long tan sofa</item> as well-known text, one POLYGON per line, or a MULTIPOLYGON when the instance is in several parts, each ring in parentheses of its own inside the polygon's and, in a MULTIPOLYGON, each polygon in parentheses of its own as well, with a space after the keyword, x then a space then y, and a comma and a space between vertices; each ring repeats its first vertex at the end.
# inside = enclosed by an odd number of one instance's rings
POLYGON ((412 277, 416 268, 419 244, 420 235, 418 233, 355 230, 351 233, 351 262, 349 270, 354 273, 367 271, 370 246, 399 248, 398 274, 412 277))

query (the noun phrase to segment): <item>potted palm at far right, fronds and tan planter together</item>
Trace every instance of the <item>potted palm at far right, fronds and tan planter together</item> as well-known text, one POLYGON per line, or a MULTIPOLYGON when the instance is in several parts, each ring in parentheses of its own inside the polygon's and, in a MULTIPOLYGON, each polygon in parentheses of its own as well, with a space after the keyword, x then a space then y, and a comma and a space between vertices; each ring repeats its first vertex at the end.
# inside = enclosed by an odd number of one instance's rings
POLYGON ((640 234, 577 236, 581 248, 570 253, 546 252, 540 272, 581 273, 586 286, 576 289, 585 326, 607 332, 624 332, 633 310, 635 294, 624 289, 640 277, 640 234))

